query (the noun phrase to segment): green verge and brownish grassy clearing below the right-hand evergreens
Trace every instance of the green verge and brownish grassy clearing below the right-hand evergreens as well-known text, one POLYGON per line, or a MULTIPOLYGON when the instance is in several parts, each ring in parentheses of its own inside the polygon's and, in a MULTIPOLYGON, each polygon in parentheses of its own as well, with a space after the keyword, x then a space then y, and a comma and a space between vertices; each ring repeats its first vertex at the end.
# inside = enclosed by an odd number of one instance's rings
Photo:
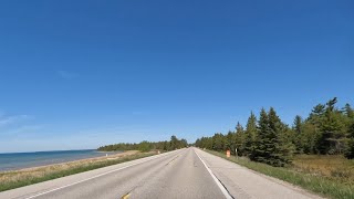
POLYGON ((354 160, 341 156, 296 156, 293 165, 281 168, 242 157, 227 158, 223 153, 207 151, 326 198, 354 198, 354 160))

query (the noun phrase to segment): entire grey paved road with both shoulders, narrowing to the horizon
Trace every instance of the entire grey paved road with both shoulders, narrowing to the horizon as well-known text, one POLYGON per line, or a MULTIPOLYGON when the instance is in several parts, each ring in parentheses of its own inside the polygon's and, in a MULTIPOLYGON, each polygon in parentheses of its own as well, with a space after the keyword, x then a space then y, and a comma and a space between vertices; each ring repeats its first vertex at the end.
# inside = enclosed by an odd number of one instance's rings
POLYGON ((197 148, 185 148, 0 192, 21 199, 319 198, 197 148))

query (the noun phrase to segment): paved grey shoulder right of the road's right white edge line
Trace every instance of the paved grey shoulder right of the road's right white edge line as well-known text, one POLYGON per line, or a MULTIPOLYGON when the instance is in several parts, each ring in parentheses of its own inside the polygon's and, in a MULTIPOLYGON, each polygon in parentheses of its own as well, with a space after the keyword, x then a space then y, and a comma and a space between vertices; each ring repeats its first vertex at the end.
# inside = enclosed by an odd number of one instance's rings
POLYGON ((218 156, 196 149, 235 198, 321 198, 289 182, 259 174, 218 156))

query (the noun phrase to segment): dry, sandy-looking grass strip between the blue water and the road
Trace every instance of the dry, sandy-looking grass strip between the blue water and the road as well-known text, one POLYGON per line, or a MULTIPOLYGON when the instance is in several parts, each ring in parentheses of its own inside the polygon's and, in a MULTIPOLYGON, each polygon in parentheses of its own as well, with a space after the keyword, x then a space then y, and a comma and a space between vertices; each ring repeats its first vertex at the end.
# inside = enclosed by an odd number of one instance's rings
POLYGON ((116 158, 92 158, 32 169, 0 172, 0 192, 87 170, 153 156, 156 153, 131 153, 116 158))

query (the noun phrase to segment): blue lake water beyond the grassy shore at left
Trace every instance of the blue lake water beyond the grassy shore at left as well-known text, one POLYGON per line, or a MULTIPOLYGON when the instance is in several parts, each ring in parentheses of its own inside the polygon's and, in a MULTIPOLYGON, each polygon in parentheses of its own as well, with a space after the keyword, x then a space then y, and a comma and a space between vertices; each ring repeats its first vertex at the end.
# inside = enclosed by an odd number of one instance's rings
POLYGON ((0 171, 45 166, 105 155, 106 153, 100 153, 97 150, 58 150, 0 154, 0 171))

